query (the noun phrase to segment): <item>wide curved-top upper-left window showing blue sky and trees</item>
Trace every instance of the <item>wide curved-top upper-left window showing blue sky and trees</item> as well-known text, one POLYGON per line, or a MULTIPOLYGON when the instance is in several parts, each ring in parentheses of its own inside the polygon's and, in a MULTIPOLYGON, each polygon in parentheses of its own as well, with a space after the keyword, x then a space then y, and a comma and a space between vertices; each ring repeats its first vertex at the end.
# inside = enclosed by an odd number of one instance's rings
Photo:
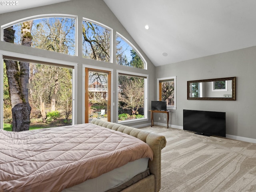
POLYGON ((4 29, 7 42, 75 55, 75 19, 41 18, 4 29), (14 37, 14 40, 11 40, 14 37), (25 41, 24 41, 25 40, 25 41))

